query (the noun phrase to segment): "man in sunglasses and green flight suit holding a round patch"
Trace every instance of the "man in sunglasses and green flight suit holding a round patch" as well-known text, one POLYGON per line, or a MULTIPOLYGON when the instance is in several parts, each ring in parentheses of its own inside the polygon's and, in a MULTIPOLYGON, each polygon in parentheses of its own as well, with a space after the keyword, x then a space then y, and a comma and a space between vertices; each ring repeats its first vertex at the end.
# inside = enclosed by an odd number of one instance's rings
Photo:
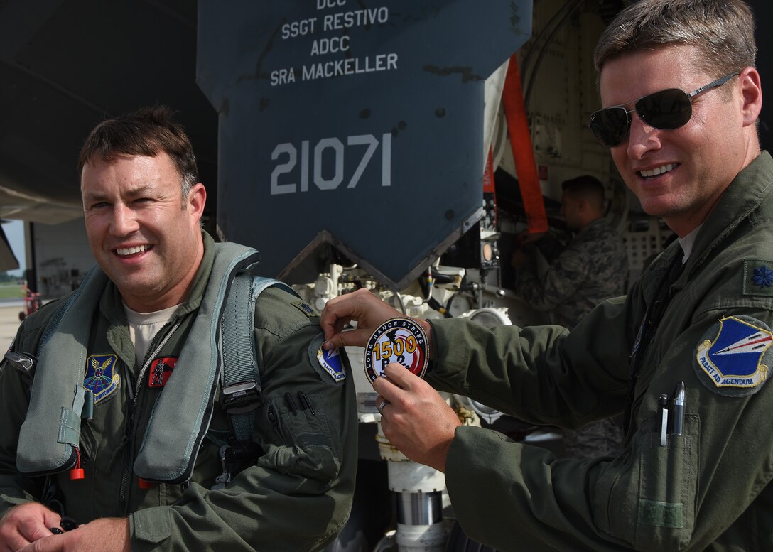
MULTIPOLYGON (((590 126, 644 210, 679 236, 627 297, 558 326, 421 321, 426 381, 373 383, 386 437, 445 472, 461 526, 500 550, 771 550, 773 160, 741 0, 639 0, 595 51, 590 126), (459 424, 430 387, 533 421, 625 415, 615 457, 557 460, 459 424)), ((394 310, 367 292, 322 315, 362 344, 394 310), (343 322, 358 320, 352 332, 343 322)))

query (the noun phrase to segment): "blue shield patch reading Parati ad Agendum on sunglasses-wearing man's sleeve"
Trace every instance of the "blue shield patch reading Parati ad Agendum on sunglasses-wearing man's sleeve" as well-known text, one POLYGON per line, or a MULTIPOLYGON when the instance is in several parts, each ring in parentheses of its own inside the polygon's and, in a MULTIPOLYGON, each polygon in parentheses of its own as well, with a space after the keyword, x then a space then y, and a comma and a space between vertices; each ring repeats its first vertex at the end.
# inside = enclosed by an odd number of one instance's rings
POLYGON ((747 397, 768 379, 773 332, 750 316, 728 316, 712 325, 696 347, 695 371, 703 385, 726 397, 747 397))

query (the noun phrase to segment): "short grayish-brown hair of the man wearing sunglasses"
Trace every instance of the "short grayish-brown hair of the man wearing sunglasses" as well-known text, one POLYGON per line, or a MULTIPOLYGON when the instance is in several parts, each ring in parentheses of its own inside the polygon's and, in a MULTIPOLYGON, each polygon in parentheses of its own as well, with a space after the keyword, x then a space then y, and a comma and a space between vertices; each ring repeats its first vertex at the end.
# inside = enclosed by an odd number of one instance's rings
POLYGON ((638 0, 598 39, 596 72, 622 54, 669 44, 695 46, 700 69, 717 77, 754 66, 754 15, 743 0, 638 0))

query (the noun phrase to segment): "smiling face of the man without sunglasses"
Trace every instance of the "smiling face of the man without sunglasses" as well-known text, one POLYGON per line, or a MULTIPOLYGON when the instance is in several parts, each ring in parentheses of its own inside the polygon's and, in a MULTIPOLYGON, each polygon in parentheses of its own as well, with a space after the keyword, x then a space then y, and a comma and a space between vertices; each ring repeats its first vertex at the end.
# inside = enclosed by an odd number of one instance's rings
POLYGON ((124 303, 138 312, 179 305, 204 254, 199 231, 206 192, 182 190, 165 152, 95 158, 81 170, 91 250, 124 303))

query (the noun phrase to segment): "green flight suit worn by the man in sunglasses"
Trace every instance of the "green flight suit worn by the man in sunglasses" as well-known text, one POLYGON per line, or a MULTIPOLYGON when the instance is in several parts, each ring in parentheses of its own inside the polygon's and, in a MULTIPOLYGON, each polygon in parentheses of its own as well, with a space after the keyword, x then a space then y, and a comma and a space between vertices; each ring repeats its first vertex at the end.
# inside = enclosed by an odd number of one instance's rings
MULTIPOLYGON (((576 428, 622 413, 638 330, 677 256, 678 243, 627 298, 599 305, 571 332, 431 321, 434 366, 427 380, 535 423, 576 428)), ((707 217, 670 294, 652 338, 642 343, 620 455, 557 459, 495 431, 457 429, 446 482, 470 537, 528 552, 773 550, 773 385, 765 382, 773 359, 773 160, 767 152, 737 175, 707 217), (745 341, 713 349, 733 332, 745 341), (733 377, 717 387, 717 370, 701 353, 709 344, 712 362, 753 372, 756 383, 733 377), (723 356, 731 349, 744 355, 723 356), (668 434, 661 446, 658 397, 670 397, 679 381, 686 384, 684 431, 668 434)))

